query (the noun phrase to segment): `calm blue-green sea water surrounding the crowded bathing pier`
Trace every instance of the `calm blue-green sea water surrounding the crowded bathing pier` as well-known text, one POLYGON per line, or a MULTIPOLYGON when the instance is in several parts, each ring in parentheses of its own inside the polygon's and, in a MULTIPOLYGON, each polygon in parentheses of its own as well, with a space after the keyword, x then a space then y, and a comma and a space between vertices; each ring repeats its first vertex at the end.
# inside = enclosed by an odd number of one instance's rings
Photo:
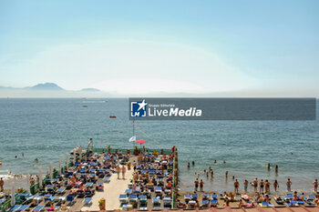
POLYGON ((181 191, 192 191, 196 177, 206 191, 232 191, 233 176, 240 190, 258 177, 277 179, 284 192, 290 177, 293 191, 309 193, 319 178, 318 113, 315 121, 136 121, 133 130, 127 98, 1 98, 0 120, 1 177, 47 172, 89 138, 97 147, 131 148, 134 131, 151 149, 177 146, 181 191), (209 167, 213 177, 205 175, 209 167))

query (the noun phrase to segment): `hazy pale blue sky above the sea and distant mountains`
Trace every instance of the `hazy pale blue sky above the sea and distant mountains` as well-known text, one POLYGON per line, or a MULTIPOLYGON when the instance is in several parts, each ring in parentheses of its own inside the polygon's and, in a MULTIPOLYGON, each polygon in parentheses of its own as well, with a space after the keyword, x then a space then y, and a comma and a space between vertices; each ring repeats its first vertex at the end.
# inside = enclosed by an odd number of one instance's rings
POLYGON ((318 96, 319 1, 0 0, 0 86, 318 96))

